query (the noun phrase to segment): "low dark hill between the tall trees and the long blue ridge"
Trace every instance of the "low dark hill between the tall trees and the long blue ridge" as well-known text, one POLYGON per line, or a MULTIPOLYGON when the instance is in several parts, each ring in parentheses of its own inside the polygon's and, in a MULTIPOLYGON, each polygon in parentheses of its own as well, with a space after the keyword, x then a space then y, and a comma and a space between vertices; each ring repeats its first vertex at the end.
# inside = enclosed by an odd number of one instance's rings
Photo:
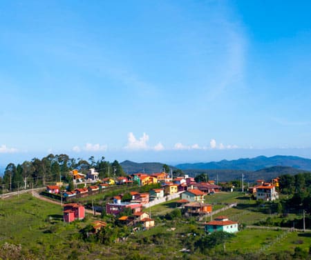
MULTIPOLYGON (((133 161, 122 161, 120 163, 124 172, 127 174, 133 174, 137 172, 145 172, 151 174, 153 172, 162 172, 164 163, 135 163, 133 161)), ((176 167, 169 166, 172 170, 176 167)))

